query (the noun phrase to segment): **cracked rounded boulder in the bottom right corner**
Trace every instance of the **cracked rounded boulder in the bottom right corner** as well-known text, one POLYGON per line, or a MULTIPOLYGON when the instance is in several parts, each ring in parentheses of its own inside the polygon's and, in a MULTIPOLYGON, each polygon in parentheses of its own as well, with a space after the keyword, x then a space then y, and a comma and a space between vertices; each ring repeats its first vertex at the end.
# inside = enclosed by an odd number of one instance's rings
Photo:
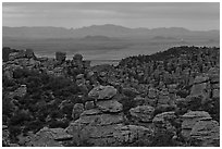
POLYGON ((197 122, 190 137, 200 141, 200 146, 213 147, 220 146, 220 126, 217 121, 200 120, 197 122))

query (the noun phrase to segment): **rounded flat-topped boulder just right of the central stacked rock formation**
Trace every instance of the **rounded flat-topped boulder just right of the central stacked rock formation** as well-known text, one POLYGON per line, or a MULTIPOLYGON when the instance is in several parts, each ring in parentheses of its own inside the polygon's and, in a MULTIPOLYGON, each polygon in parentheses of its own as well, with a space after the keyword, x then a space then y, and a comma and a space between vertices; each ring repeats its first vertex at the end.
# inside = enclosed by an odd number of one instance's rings
POLYGON ((136 117, 141 122, 150 122, 152 119, 155 108, 150 105, 138 105, 136 108, 132 108, 130 113, 132 116, 136 117))

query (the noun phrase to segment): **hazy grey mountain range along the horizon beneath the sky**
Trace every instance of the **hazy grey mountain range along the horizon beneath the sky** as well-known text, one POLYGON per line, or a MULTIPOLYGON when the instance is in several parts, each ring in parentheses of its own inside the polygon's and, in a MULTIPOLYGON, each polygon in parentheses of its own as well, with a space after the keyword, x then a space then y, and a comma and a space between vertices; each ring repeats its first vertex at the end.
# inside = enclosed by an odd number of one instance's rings
POLYGON ((85 40, 110 40, 113 38, 128 39, 188 39, 201 38, 220 40, 219 30, 197 32, 182 27, 170 28, 127 28, 113 24, 91 25, 76 29, 63 27, 2 27, 3 38, 83 38, 85 40))

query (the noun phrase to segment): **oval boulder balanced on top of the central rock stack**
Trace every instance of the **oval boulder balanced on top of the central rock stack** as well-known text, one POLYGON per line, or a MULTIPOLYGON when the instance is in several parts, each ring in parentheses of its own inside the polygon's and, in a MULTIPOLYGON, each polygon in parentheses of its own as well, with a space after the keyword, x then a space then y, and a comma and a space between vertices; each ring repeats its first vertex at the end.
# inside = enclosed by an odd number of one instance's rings
POLYGON ((118 90, 113 86, 99 85, 89 91, 88 97, 94 99, 111 99, 116 92, 118 90))

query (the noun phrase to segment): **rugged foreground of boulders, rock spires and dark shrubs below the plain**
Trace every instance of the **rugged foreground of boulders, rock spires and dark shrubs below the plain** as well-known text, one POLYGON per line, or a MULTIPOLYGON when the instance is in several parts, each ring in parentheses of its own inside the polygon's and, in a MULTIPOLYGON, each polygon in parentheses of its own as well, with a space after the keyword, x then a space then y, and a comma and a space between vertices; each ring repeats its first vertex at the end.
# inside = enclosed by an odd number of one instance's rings
POLYGON ((174 47, 118 66, 2 50, 3 146, 220 146, 219 48, 174 47))

